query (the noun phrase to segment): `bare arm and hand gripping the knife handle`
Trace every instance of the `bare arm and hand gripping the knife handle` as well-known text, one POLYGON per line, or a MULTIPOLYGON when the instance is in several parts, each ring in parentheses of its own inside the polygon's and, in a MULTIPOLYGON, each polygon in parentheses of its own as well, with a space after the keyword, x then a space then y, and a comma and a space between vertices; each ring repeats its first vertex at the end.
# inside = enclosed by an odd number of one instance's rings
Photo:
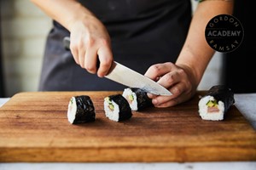
POLYGON ((75 0, 31 1, 70 31, 70 49, 77 64, 90 73, 96 73, 98 55, 101 62, 98 76, 108 73, 113 61, 110 37, 105 26, 89 9, 75 0))

